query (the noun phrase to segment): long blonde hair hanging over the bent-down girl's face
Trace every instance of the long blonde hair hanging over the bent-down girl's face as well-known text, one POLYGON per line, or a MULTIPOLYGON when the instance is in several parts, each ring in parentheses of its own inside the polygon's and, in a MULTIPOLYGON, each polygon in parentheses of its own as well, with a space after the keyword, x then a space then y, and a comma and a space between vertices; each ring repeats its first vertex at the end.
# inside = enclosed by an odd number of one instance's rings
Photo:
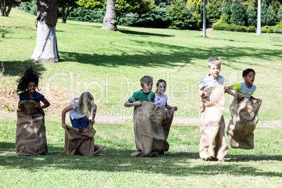
POLYGON ((83 116, 86 116, 86 118, 89 118, 93 113, 94 98, 88 91, 83 92, 80 95, 78 107, 83 116))

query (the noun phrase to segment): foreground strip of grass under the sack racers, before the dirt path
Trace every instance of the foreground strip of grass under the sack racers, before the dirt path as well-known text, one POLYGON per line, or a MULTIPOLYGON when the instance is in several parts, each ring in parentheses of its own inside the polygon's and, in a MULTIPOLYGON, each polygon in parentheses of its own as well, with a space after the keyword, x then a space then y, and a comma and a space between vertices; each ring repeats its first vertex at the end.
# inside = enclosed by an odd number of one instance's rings
POLYGON ((199 128, 172 127, 163 157, 131 157, 132 126, 95 125, 94 157, 62 156, 64 130, 46 122, 47 156, 15 156, 15 120, 1 121, 0 187, 279 187, 280 127, 257 127, 255 149, 231 149, 226 162, 199 159, 199 128), (8 177, 8 178, 7 178, 8 177))

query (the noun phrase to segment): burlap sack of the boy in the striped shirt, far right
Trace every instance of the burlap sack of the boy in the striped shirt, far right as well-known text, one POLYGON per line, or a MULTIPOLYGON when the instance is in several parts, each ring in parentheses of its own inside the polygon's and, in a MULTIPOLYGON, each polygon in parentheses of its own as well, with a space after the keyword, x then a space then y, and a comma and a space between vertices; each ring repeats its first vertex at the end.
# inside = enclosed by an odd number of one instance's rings
POLYGON ((257 113, 262 100, 250 101, 234 99, 229 109, 231 120, 227 129, 229 144, 232 148, 253 149, 254 130, 257 125, 257 113))

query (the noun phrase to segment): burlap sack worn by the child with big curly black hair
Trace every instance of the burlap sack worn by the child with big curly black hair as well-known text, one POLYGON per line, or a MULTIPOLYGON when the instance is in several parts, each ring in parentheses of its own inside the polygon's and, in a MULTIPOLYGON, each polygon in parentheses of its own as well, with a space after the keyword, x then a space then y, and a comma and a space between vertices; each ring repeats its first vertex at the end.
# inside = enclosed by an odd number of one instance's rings
POLYGON ((22 109, 17 110, 18 121, 15 136, 16 155, 46 155, 48 153, 44 112, 36 109, 36 102, 20 102, 22 109))

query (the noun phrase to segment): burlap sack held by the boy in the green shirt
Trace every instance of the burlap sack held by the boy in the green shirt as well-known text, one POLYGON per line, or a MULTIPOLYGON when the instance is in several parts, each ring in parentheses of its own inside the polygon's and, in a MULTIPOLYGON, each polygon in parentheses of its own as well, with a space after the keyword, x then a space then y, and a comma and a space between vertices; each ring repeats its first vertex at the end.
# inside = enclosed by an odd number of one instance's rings
POLYGON ((137 152, 131 156, 159 156, 165 140, 161 121, 164 108, 152 102, 142 101, 140 107, 134 107, 134 133, 137 152))

